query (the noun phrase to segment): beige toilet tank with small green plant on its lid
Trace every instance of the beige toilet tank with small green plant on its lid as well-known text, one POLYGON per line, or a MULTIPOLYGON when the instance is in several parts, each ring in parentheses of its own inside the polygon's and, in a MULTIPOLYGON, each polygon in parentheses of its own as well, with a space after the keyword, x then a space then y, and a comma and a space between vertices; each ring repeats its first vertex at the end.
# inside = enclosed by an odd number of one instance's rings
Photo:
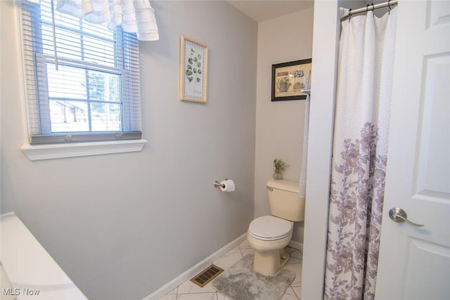
POLYGON ((284 180, 267 181, 270 213, 289 221, 304 221, 304 199, 298 194, 298 183, 284 180))

